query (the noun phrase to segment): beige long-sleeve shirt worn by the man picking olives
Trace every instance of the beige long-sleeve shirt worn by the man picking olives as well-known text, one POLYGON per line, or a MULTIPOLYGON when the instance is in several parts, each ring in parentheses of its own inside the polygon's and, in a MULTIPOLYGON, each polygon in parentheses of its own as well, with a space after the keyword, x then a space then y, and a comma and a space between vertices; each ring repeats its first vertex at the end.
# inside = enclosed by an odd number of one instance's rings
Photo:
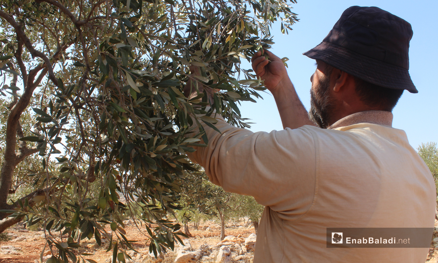
POLYGON ((216 118, 222 135, 205 126, 190 157, 265 206, 254 263, 425 262, 428 248, 326 248, 327 227, 434 227, 434 179, 391 113, 255 133, 216 118))

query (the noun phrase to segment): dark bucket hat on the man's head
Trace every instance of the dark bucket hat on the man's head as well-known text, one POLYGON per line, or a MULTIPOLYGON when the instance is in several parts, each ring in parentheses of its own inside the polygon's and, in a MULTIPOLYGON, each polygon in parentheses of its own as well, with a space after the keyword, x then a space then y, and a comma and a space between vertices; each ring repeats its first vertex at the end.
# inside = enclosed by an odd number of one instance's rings
POLYGON ((409 75, 411 25, 378 7, 347 8, 329 35, 303 53, 390 89, 417 93, 409 75))

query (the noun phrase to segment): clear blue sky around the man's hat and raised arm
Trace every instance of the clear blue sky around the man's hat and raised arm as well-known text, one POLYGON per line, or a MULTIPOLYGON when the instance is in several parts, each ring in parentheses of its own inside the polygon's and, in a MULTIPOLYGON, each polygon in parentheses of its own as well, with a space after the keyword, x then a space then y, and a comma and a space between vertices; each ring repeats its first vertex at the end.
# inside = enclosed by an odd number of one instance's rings
MULTIPOLYGON (((418 89, 417 94, 403 92, 393 110, 392 126, 406 131, 410 144, 417 148, 422 142, 438 142, 438 75, 435 72, 438 48, 437 0, 298 0, 293 12, 300 19, 289 35, 281 34, 274 24, 271 51, 279 57, 288 57, 289 77, 304 106, 310 107, 310 76, 315 71, 314 60, 302 55, 318 45, 350 6, 376 6, 410 22, 413 38, 410 42, 410 75, 418 89), (434 77, 435 76, 435 77, 434 77)), ((244 63, 242 68, 250 68, 244 63)), ((280 116, 271 94, 262 93, 264 100, 242 104, 242 117, 251 118, 251 131, 281 130, 280 116)))

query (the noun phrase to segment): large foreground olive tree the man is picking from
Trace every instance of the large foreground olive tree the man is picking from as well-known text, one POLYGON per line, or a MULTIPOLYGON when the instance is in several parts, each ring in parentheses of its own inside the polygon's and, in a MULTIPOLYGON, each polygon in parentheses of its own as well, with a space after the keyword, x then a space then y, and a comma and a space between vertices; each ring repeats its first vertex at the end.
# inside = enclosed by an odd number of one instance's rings
POLYGON ((12 99, 1 124, 0 232, 41 221, 53 258, 64 262, 86 256, 76 251, 81 239, 100 245, 105 235, 113 262, 124 261, 133 247, 120 215, 129 215, 147 223, 151 251, 173 249, 182 233, 165 216, 180 209, 179 179, 197 171, 185 154, 208 143, 201 123, 214 127, 213 109, 248 127, 237 105, 264 88, 240 59, 272 44, 273 21, 291 29, 290 8, 286 0, 1 2, 0 68, 11 75, 0 94, 12 99), (189 100, 187 82, 204 93, 189 100), (10 200, 29 156, 39 165, 26 176, 37 184, 10 200))

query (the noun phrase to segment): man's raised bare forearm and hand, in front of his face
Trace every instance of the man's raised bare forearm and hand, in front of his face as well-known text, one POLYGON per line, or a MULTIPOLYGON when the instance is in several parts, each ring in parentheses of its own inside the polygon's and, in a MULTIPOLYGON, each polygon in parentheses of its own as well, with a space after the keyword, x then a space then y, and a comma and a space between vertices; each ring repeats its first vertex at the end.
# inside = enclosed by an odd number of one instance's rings
POLYGON ((303 125, 315 126, 309 119, 306 108, 287 75, 283 61, 272 52, 265 50, 271 62, 258 51, 252 58, 254 72, 265 81, 265 87, 272 92, 280 113, 283 128, 296 129, 303 125))

